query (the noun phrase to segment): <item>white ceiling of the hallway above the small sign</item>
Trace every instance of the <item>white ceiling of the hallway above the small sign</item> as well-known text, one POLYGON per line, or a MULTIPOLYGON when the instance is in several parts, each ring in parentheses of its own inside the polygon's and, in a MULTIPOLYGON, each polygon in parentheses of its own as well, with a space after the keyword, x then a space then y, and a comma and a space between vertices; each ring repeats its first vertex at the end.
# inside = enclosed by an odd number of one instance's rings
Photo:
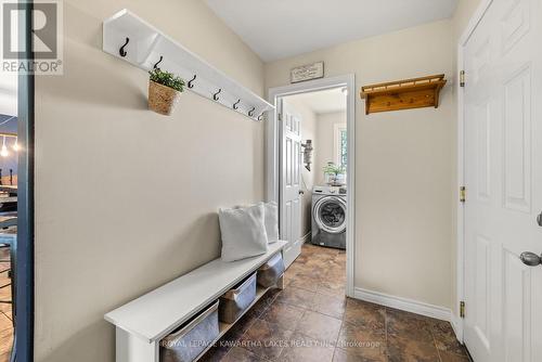
POLYGON ((263 61, 453 15, 457 0, 205 0, 263 61))

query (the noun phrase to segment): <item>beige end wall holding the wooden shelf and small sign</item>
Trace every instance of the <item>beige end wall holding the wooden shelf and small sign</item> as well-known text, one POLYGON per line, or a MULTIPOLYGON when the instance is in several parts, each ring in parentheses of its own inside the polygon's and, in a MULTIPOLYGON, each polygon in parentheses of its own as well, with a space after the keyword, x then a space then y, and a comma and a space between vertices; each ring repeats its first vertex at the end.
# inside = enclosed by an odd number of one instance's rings
MULTIPOLYGON (((357 89, 453 74, 452 22, 441 21, 266 65, 266 87, 294 66, 324 61, 326 76, 356 74, 357 89)), ((356 286, 451 305, 451 86, 438 109, 364 115, 357 98, 356 286)))

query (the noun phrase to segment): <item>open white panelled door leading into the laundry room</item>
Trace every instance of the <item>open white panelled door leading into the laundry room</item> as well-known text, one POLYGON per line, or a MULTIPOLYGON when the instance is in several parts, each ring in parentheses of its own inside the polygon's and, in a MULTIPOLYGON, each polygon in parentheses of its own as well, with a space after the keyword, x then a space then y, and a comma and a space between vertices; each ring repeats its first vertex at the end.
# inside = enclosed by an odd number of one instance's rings
POLYGON ((281 140, 280 230, 287 241, 284 250, 286 268, 301 253, 301 118, 285 100, 279 104, 281 140))

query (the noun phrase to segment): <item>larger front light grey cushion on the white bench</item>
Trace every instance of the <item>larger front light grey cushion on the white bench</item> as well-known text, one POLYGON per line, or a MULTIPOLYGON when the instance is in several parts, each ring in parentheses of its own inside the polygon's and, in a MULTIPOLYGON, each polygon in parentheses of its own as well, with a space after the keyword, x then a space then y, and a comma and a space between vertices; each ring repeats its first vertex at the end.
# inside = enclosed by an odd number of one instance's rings
POLYGON ((218 219, 222 237, 222 260, 235 261, 268 251, 263 204, 245 208, 222 208, 218 211, 218 219))

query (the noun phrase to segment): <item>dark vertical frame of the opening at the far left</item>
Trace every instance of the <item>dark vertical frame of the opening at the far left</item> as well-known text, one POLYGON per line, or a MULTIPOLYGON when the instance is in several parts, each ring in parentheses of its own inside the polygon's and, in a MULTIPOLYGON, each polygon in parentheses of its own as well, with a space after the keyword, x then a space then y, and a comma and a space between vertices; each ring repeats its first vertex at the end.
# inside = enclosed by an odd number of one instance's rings
MULTIPOLYGON (((21 59, 34 61, 33 12, 34 1, 24 4, 20 12, 18 43, 25 44, 21 59)), ((35 75, 20 74, 17 77, 17 137, 22 147, 18 151, 17 174, 17 238, 14 247, 14 295, 16 312, 13 315, 15 331, 10 361, 34 361, 35 323, 35 233, 34 233, 34 160, 35 160, 35 75)))

